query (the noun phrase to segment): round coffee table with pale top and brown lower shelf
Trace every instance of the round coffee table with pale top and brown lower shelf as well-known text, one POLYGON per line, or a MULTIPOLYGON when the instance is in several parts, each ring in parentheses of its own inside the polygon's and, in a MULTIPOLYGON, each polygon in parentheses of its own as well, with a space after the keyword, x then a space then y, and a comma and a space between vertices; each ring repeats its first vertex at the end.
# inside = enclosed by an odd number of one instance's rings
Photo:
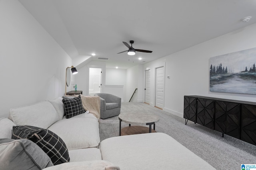
POLYGON ((157 115, 149 113, 120 113, 118 118, 120 120, 119 136, 156 132, 156 123, 159 121, 157 115), (129 126, 121 129, 121 122, 129 123, 129 126), (145 125, 149 125, 149 128, 145 125), (152 125, 154 125, 154 129, 151 129, 152 125))

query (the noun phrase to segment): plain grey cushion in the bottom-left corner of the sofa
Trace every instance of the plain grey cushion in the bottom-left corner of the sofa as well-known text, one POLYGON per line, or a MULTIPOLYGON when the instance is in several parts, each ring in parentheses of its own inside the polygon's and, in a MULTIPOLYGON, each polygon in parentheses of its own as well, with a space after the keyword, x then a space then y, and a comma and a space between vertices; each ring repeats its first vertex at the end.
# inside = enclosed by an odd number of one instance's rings
POLYGON ((41 170, 53 166, 51 159, 27 139, 0 139, 0 169, 41 170))

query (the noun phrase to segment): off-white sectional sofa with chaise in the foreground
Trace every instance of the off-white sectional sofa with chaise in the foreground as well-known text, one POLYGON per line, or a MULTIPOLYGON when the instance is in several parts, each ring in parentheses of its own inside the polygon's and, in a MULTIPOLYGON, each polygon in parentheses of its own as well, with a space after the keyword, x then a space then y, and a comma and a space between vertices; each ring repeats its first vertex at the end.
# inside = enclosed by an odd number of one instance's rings
MULTIPOLYGON (((100 142, 99 122, 91 113, 66 119, 62 98, 56 98, 10 109, 9 118, 0 118, 0 139, 10 139, 12 127, 20 125, 41 127, 54 132, 66 144, 70 160, 45 170, 215 169, 164 133, 112 137, 100 142)), ((0 143, 0 164, 5 161, 4 166, 8 169, 6 159, 6 145, 0 143)), ((19 166, 16 168, 22 169, 19 166)), ((12 170, 16 168, 12 166, 12 170)))

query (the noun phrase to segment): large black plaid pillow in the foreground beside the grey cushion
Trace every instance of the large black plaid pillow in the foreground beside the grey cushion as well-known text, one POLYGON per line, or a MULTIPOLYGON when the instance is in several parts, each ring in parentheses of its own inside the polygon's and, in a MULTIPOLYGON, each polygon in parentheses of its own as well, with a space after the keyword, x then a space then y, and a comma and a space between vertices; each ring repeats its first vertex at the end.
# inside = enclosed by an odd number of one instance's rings
POLYGON ((64 141, 48 129, 34 126, 13 126, 12 139, 29 139, 36 143, 51 158, 54 165, 70 160, 64 141))

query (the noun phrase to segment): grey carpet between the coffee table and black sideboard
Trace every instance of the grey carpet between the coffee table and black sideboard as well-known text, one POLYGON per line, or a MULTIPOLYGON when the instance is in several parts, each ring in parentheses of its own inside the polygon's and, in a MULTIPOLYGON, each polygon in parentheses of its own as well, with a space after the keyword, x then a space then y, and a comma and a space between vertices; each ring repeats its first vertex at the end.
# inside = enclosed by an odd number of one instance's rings
MULTIPOLYGON (((123 112, 154 113, 160 117, 156 131, 170 135, 217 170, 240 170, 241 164, 256 164, 256 146, 140 102, 122 103, 123 112)), ((122 127, 128 124, 122 123, 122 127)), ((100 119, 100 140, 119 135, 118 116, 100 119)), ((186 161, 186 160, 184 160, 186 161)))

